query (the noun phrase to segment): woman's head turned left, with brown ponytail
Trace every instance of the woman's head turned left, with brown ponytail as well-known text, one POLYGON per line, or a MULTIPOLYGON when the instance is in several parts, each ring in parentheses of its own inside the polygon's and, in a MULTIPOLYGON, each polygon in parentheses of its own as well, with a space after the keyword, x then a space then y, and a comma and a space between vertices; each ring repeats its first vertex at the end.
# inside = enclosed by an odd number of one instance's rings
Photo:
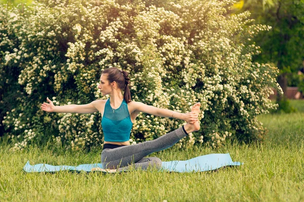
POLYGON ((113 90, 124 90, 124 99, 127 103, 131 102, 131 93, 129 89, 130 78, 128 73, 118 68, 105 69, 100 76, 98 88, 103 94, 108 94, 113 90))

